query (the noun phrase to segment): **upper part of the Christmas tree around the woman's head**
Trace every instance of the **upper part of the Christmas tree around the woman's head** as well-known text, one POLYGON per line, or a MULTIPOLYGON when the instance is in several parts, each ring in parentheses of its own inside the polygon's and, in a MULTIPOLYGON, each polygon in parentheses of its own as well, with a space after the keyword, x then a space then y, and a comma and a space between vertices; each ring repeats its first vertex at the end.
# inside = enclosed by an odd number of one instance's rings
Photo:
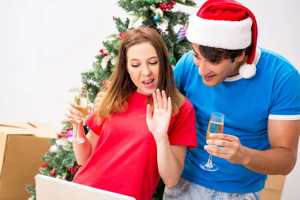
POLYGON ((192 0, 118 0, 117 3, 131 18, 121 20, 113 17, 118 33, 109 35, 108 39, 102 42, 103 48, 95 56, 96 61, 92 64, 92 70, 81 73, 83 87, 89 91, 91 102, 113 70, 122 37, 136 23, 157 30, 168 49, 173 66, 176 60, 191 50, 191 44, 185 37, 189 14, 172 9, 176 3, 195 6, 192 0), (181 26, 178 32, 174 31, 176 25, 181 26))

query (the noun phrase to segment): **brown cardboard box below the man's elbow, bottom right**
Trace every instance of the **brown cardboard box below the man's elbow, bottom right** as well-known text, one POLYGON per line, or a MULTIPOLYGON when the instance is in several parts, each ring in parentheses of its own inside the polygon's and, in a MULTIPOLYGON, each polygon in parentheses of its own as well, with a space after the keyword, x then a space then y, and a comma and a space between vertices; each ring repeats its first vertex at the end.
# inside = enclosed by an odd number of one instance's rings
POLYGON ((280 200, 285 181, 284 175, 268 175, 261 190, 261 200, 280 200))

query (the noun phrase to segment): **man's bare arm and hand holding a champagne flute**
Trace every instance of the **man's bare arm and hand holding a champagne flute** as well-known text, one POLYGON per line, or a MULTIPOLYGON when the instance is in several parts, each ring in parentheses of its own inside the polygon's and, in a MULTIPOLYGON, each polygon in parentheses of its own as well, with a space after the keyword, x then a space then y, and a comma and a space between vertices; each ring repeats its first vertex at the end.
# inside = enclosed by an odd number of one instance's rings
POLYGON ((242 164, 248 169, 262 174, 287 175, 295 166, 300 134, 300 120, 268 120, 268 138, 271 149, 255 150, 242 146, 238 137, 229 134, 210 134, 207 144, 221 147, 204 146, 214 156, 229 162, 242 164))

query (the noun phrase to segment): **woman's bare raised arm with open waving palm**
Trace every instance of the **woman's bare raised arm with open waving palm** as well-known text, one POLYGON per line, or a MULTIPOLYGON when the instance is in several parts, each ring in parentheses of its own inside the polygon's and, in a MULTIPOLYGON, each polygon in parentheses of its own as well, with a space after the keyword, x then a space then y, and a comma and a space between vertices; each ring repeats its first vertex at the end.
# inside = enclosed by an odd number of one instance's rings
POLYGON ((178 182, 183 171, 187 146, 184 144, 170 145, 167 131, 172 104, 170 97, 167 99, 164 91, 161 94, 159 89, 156 90, 156 93, 153 92, 154 112, 152 116, 151 106, 147 105, 146 121, 156 142, 159 175, 167 187, 172 187, 178 182))

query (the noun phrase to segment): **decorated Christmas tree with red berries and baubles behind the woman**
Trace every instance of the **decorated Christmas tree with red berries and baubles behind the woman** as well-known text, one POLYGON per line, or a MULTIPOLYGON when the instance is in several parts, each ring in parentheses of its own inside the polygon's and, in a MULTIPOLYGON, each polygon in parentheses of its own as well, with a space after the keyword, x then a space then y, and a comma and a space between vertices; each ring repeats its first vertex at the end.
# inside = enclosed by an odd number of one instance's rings
MULTIPOLYGON (((89 91, 89 101, 93 102, 99 89, 106 83, 116 63, 119 44, 125 36, 126 31, 135 27, 137 22, 140 25, 152 27, 161 35, 170 56, 172 65, 175 65, 185 52, 191 50, 191 44, 185 37, 186 25, 189 14, 182 11, 173 11, 176 3, 195 6, 192 0, 118 0, 121 6, 131 18, 121 20, 113 17, 118 33, 108 36, 103 41, 103 48, 95 56, 96 61, 92 63, 92 69, 81 73, 83 88, 89 91), (180 25, 178 32, 174 27, 180 25)), ((88 127, 84 125, 85 133, 88 127)), ((72 134, 71 123, 64 123, 64 127, 56 138, 49 143, 53 144, 49 152, 41 156, 44 163, 39 167, 43 175, 71 181, 80 167, 72 149, 72 144, 66 139, 72 134)), ((26 186, 31 194, 30 200, 35 200, 35 187, 26 186)), ((160 180, 152 199, 162 199, 164 184, 160 180)), ((28 200, 29 200, 28 199, 28 200)))

